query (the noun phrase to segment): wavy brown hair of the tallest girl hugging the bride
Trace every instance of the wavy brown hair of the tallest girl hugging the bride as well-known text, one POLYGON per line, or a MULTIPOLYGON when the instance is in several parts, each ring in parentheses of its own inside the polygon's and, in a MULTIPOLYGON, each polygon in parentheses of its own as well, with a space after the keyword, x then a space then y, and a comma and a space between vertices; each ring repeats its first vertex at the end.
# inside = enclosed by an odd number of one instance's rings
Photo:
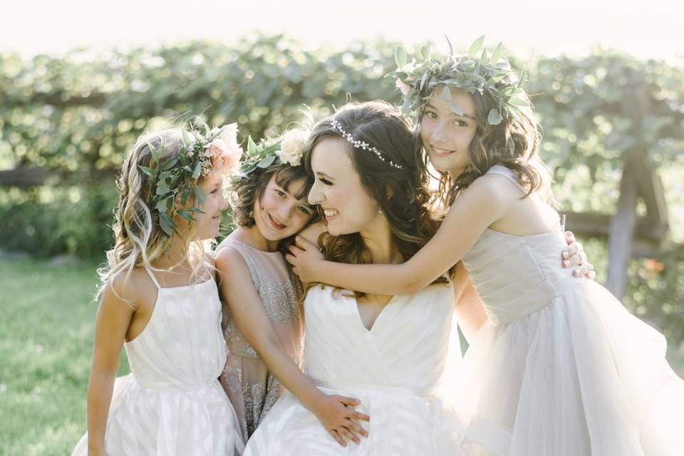
MULTIPOLYGON (((504 78, 505 79, 505 78, 504 78)), ((509 83, 502 81, 503 83, 509 83)), ((529 103, 529 108, 522 108, 518 119, 504 115, 499 125, 489 125, 489 111, 497 109, 497 101, 486 91, 472 93, 475 101, 475 118, 477 129, 475 137, 468 147, 469 164, 458 176, 452 176, 444 170, 437 170, 435 176, 439 180, 437 195, 444 207, 449 207, 457 195, 469 187, 477 177, 484 175, 490 167, 503 165, 513 170, 521 185, 527 188, 527 197, 532 192, 541 191, 551 200, 551 173, 539 157, 541 133, 534 120, 532 102, 527 94, 518 95, 529 103)), ((420 138, 420 121, 423 120, 424 107, 419 113, 415 138, 420 138)), ((427 167, 427 153, 423 151, 423 166, 427 167)))

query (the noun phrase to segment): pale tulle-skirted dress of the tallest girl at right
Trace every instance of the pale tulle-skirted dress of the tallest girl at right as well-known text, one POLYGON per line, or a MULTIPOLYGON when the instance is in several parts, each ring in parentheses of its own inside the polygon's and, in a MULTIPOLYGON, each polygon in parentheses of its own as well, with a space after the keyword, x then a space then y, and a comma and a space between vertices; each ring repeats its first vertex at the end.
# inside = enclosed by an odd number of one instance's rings
MULTIPOLYGON (((488 173, 520 187, 506 167, 488 173)), ((565 245, 560 229, 487 229, 462 259, 489 316, 454 388, 462 454, 684 455, 684 382, 665 338, 561 269, 565 245)))

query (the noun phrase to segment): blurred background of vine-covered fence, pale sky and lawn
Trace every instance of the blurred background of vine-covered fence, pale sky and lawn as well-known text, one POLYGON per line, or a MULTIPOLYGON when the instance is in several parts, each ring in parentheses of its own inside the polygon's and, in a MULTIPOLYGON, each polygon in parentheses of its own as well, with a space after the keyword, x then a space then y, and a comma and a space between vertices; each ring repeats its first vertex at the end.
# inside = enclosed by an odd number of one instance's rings
POLYGON ((398 103, 395 46, 446 51, 443 34, 527 68, 567 228, 684 375, 682 6, 91 3, 0 6, 0 455, 68 454, 86 429, 95 268, 142 130, 202 113, 259 138, 304 103, 398 103))

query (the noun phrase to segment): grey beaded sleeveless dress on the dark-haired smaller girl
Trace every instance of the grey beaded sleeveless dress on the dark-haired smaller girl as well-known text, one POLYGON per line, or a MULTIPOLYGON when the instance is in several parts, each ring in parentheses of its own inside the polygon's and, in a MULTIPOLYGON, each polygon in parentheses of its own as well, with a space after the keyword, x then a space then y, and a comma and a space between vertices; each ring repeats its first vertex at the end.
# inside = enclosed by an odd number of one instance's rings
MULTIPOLYGON (((224 239, 217 252, 224 247, 235 249, 244 259, 276 336, 285 351, 299 364, 302 325, 293 285, 299 282, 293 280, 283 255, 255 249, 234 237, 224 239)), ((240 332, 225 304, 222 327, 229 353, 219 380, 237 413, 242 436, 247 440, 284 388, 240 332)))

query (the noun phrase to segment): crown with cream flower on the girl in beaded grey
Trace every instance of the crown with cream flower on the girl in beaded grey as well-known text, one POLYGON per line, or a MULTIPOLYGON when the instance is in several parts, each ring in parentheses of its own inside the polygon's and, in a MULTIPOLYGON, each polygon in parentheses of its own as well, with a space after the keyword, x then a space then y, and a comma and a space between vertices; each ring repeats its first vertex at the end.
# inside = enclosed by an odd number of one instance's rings
POLYGON ((296 128, 287 130, 282 135, 266 137, 257 144, 252 136, 247 138, 247 157, 240 164, 240 171, 235 177, 247 177, 254 170, 276 165, 299 166, 304 155, 304 146, 309 139, 309 130, 296 128))

